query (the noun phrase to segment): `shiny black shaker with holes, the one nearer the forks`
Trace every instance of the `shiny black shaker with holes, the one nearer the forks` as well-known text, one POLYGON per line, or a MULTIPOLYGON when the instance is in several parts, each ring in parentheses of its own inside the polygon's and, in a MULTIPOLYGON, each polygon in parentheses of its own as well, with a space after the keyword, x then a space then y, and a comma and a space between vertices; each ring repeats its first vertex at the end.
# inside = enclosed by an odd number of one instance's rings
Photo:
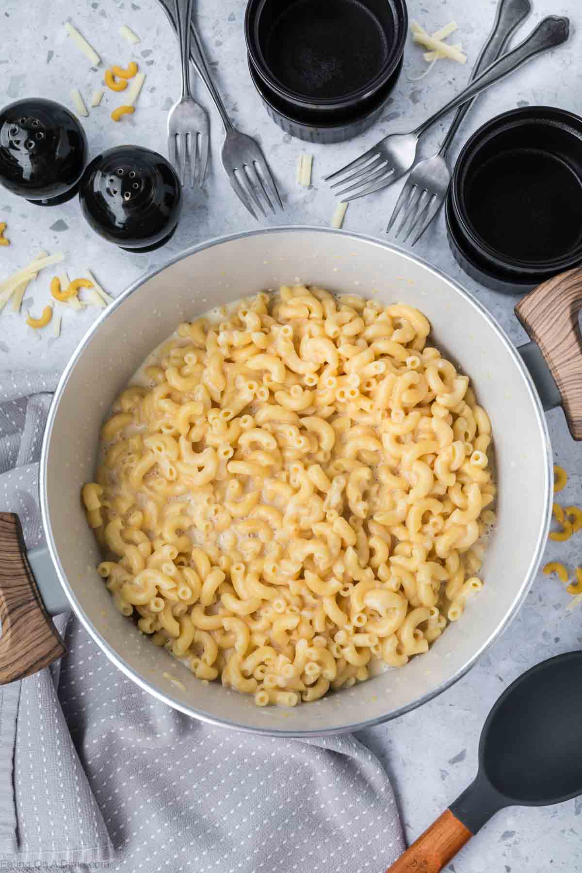
POLYGON ((162 155, 141 146, 118 146, 88 165, 79 202, 100 237, 127 251, 154 251, 175 232, 181 184, 162 155))

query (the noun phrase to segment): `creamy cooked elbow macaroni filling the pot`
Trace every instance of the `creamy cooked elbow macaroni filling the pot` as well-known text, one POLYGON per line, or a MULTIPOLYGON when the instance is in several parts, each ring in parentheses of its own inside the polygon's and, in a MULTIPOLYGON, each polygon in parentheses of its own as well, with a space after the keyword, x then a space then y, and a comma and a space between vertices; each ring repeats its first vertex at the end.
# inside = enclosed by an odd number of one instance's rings
POLYGON ((101 429, 99 575, 196 677, 312 702, 426 652, 482 588, 490 420, 410 306, 300 285, 217 312, 101 429))

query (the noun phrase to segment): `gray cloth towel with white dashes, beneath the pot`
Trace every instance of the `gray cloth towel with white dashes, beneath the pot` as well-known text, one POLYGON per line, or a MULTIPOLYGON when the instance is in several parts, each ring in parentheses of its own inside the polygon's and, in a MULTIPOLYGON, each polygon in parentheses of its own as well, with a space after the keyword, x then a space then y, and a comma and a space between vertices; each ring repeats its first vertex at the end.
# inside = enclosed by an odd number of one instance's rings
MULTIPOLYGON (((38 546, 38 457, 57 374, 0 373, 0 511, 38 546)), ((380 873, 394 794, 352 736, 230 732, 141 691, 71 616, 66 656, 0 687, 0 870, 380 873)))

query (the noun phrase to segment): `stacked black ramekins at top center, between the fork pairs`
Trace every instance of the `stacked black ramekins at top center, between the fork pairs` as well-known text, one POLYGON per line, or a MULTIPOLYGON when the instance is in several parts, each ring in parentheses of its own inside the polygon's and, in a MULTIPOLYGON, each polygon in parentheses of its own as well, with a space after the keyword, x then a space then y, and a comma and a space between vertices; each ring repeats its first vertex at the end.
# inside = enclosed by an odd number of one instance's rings
POLYGON ((402 68, 405 0, 249 0, 251 78, 300 139, 338 142, 378 117, 402 68))

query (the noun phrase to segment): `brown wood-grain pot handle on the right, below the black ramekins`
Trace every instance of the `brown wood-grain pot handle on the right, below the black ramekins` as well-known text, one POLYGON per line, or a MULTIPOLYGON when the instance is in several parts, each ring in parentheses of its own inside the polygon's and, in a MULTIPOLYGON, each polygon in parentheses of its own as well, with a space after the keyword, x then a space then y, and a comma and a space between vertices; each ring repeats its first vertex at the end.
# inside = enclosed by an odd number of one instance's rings
POLYGON ((515 307, 531 340, 537 343, 562 397, 574 439, 582 439, 582 268, 538 285, 515 307))

